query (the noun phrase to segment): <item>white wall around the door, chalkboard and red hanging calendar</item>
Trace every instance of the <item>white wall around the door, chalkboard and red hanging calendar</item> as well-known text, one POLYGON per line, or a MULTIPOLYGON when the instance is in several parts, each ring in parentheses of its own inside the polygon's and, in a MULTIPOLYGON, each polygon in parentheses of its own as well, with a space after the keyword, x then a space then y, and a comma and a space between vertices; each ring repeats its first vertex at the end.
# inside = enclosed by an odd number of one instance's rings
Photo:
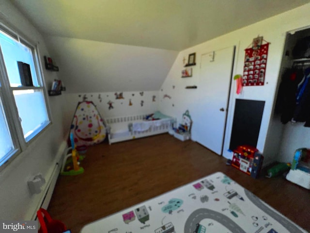
MULTIPOLYGON (((219 50, 230 46, 236 46, 235 64, 233 67, 233 75, 242 74, 244 65, 245 49, 251 44, 252 39, 257 35, 270 42, 268 60, 266 66, 265 85, 244 87, 241 95, 237 95, 236 85, 233 81, 231 88, 231 97, 228 110, 228 121, 226 126, 226 134, 224 141, 223 155, 230 158, 231 152, 228 151, 230 143, 230 135, 232 132, 234 103, 236 99, 263 100, 265 107, 263 112, 262 124, 258 138, 257 148, 265 155, 265 162, 268 163, 275 159, 275 154, 265 151, 265 139, 268 133, 268 126, 273 109, 275 90, 278 83, 279 67, 284 47, 285 33, 287 31, 305 27, 310 22, 310 4, 298 7, 294 10, 271 17, 252 24, 248 27, 236 30, 232 33, 225 34, 213 40, 204 42, 200 45, 183 50, 177 56, 167 79, 162 85, 163 93, 171 95, 171 100, 160 102, 159 109, 171 116, 182 116, 181 114, 188 109, 193 118, 192 139, 196 140, 195 119, 198 116, 199 108, 199 65, 201 55, 213 50, 219 50), (183 58, 188 57, 189 53, 196 52, 197 66, 193 67, 192 78, 181 78, 181 70, 183 69, 183 58), (175 89, 172 89, 172 86, 175 89), (197 85, 198 89, 185 89, 186 85, 197 85), (174 107, 171 107, 172 103, 174 107)), ((216 79, 216 77, 214 77, 216 79)))

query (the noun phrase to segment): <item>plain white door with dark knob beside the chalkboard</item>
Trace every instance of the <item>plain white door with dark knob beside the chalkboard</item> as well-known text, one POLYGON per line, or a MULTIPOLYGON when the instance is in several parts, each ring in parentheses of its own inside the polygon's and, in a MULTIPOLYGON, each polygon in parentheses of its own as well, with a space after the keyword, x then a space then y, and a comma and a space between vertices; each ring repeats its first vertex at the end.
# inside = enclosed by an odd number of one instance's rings
POLYGON ((222 154, 234 47, 202 54, 197 142, 222 154))

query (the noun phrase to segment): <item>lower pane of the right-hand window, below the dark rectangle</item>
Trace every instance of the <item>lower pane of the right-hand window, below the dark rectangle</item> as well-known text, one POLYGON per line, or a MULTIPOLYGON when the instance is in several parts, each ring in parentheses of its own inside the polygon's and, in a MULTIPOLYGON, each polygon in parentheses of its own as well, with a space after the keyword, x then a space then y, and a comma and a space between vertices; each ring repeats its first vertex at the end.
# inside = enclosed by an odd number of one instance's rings
POLYGON ((24 138, 28 142, 49 123, 43 90, 14 90, 13 94, 24 138))

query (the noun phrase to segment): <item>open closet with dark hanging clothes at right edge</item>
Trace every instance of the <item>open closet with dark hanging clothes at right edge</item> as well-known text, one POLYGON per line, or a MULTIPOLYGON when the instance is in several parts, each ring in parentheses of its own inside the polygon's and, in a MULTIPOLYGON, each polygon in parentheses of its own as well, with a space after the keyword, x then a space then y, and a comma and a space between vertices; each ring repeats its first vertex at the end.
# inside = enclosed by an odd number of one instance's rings
POLYGON ((295 150, 310 147, 310 27, 286 34, 271 124, 277 161, 292 163, 295 150))

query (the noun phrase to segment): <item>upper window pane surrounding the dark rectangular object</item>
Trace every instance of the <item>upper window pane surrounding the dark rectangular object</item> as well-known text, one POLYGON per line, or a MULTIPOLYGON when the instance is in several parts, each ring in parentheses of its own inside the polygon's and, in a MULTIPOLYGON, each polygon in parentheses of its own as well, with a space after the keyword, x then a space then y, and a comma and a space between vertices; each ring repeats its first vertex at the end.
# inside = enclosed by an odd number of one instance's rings
POLYGON ((17 62, 30 65, 32 83, 38 86, 38 79, 34 68, 32 51, 27 46, 20 44, 11 37, 0 32, 0 46, 4 58, 6 71, 12 87, 21 86, 17 62))

